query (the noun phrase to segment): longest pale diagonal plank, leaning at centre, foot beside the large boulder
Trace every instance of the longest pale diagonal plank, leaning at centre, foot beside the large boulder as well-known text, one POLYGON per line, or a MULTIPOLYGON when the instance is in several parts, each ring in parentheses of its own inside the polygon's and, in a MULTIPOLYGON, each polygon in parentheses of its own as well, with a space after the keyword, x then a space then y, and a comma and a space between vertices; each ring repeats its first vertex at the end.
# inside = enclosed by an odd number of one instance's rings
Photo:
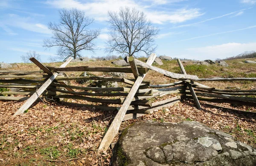
MULTIPOLYGON (((147 64, 151 65, 154 62, 154 59, 156 58, 156 54, 151 54, 150 57, 147 60, 147 64)), ((102 139, 98 152, 100 151, 106 151, 108 147, 110 146, 111 142, 113 141, 114 137, 118 133, 119 127, 122 123, 123 118, 125 117, 125 113, 131 104, 131 100, 135 96, 137 90, 139 89, 140 84, 142 83, 144 77, 146 74, 140 74, 135 81, 134 85, 131 88, 130 93, 128 94, 126 100, 124 101, 122 107, 120 108, 119 112, 116 114, 116 117, 112 121, 108 131, 106 132, 104 138, 102 139)))

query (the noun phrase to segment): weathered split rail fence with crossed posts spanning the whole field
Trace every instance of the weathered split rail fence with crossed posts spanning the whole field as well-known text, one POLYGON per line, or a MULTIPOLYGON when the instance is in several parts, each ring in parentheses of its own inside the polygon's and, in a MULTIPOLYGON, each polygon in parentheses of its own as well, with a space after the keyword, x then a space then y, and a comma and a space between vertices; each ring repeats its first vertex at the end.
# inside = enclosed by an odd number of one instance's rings
MULTIPOLYGON (((205 86, 196 81, 256 81, 256 78, 198 78, 195 75, 186 74, 182 63, 178 59, 178 64, 182 74, 168 72, 166 70, 152 66, 156 54, 151 54, 147 62, 144 63, 134 57, 126 57, 125 60, 130 63, 131 67, 66 67, 71 58, 66 60, 59 68, 44 66, 35 58, 30 60, 35 63, 41 70, 38 71, 13 71, 0 70, 0 88, 15 88, 16 91, 0 92, 0 100, 17 100, 26 102, 20 109, 15 112, 14 116, 23 114, 26 109, 36 100, 70 98, 78 100, 86 100, 96 104, 85 105, 106 111, 118 111, 111 126, 106 132, 99 146, 99 152, 106 151, 118 133, 119 127, 123 120, 140 117, 144 114, 151 114, 154 110, 171 106, 179 102, 183 98, 191 98, 195 102, 195 106, 201 109, 199 100, 212 103, 232 103, 236 105, 256 107, 256 89, 251 90, 226 90, 215 89, 205 86), (140 66, 140 67, 137 67, 140 66), (164 74, 164 76, 176 79, 177 82, 151 85, 150 81, 144 80, 145 75, 151 69, 155 72, 164 74), (135 79, 111 78, 111 77, 65 77, 64 72, 123 72, 133 73, 135 79), (125 87, 84 87, 70 86, 65 83, 67 80, 99 80, 125 83, 125 87), (74 90, 76 89, 76 91, 74 90), (79 91, 78 91, 79 90, 79 91), (163 97, 167 94, 176 94, 175 97, 166 100, 151 102, 150 98, 163 97), (23 97, 13 97, 8 95, 23 95, 23 97), (29 97, 29 96, 30 97, 29 97), (97 98, 98 96, 98 98, 97 98), (102 99, 99 97, 109 97, 102 99), (114 99, 113 99, 114 97, 114 99), (119 97, 119 98, 118 98, 119 97), (119 104, 115 106, 103 106, 98 103, 119 104)), ((67 102, 65 102, 67 103, 67 102)), ((76 105, 81 105, 76 103, 76 105)), ((209 106, 214 106, 207 104, 209 106)), ((226 107, 215 106, 222 109, 226 107)), ((255 112, 246 112, 237 109, 231 109, 236 112, 255 114, 255 112)))

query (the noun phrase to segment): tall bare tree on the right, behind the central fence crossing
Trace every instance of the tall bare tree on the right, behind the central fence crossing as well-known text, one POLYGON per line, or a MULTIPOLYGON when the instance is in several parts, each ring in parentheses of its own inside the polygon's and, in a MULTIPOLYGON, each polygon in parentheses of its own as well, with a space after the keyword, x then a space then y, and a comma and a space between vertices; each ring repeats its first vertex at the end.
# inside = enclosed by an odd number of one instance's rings
POLYGON ((135 55, 138 52, 151 54, 156 49, 154 39, 158 28, 146 19, 146 15, 137 9, 120 8, 119 12, 108 12, 110 37, 106 52, 135 55))

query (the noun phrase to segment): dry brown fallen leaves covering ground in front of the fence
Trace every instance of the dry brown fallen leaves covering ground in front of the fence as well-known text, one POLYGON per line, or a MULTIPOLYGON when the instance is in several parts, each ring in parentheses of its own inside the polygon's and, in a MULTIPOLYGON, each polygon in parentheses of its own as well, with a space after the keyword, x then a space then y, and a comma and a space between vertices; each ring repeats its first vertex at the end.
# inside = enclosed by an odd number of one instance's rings
MULTIPOLYGON (((167 95, 157 100, 164 100, 167 95)), ((46 160, 70 160, 53 165, 108 165, 111 150, 97 155, 96 151, 116 112, 89 109, 74 104, 35 103, 27 113, 12 117, 24 102, 0 101, 0 162, 1 165, 50 165, 46 160)), ((122 123, 120 132, 140 120, 180 122, 195 120, 218 129, 256 147, 256 117, 223 112, 201 103, 183 101, 135 120, 122 123)), ((226 104, 226 106, 230 106, 226 104)), ((231 106, 230 106, 231 107, 231 106)), ((241 109, 241 108, 240 108, 241 109)), ((247 108, 244 108, 247 109, 247 108)), ((115 141, 118 139, 116 136, 115 141)))

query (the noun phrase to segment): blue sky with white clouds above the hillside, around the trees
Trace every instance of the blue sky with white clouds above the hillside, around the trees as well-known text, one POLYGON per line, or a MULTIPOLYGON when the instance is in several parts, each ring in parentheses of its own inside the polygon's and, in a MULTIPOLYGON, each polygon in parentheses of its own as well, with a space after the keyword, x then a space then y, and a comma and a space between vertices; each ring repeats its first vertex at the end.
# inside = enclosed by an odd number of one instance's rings
POLYGON ((160 29, 157 55, 205 60, 256 51, 256 0, 0 0, 0 62, 19 63, 20 56, 36 51, 43 62, 56 49, 42 47, 51 37, 50 21, 58 10, 77 8, 95 19, 100 28, 99 50, 83 56, 104 56, 108 38, 108 11, 135 7, 160 29))

